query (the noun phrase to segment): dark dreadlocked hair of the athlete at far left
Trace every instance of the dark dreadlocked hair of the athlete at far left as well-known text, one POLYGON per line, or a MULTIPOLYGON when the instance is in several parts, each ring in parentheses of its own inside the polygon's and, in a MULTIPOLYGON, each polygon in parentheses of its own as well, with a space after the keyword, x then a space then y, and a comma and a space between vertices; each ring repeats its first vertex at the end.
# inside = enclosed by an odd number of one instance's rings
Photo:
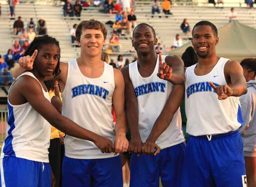
MULTIPOLYGON (((33 42, 30 43, 29 47, 27 48, 27 50, 24 53, 24 56, 27 56, 27 55, 32 56, 35 50, 39 51, 42 48, 42 45, 50 44, 50 43, 55 44, 59 48, 59 51, 60 51, 59 42, 51 36, 44 35, 44 36, 36 37, 33 40, 33 42)), ((57 66, 53 72, 53 75, 57 76, 60 72, 61 71, 60 71, 60 58, 59 58, 57 66)))

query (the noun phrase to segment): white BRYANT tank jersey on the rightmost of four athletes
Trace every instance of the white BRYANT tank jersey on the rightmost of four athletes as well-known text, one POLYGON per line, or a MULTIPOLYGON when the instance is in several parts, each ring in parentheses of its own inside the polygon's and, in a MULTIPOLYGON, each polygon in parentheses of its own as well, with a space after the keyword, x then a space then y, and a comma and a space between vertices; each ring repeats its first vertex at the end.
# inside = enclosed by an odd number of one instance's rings
POLYGON ((197 76, 196 64, 186 69, 185 109, 187 133, 192 136, 217 135, 237 130, 243 123, 239 97, 219 100, 210 86, 227 85, 224 67, 229 59, 220 58, 210 73, 197 76))

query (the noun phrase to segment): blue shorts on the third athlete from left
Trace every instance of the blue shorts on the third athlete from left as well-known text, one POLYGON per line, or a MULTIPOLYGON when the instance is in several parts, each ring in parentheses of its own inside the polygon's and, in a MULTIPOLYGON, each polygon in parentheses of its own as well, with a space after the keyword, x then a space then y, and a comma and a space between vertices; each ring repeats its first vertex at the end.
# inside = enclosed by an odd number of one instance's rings
POLYGON ((132 154, 130 187, 159 187, 159 177, 163 187, 180 187, 185 147, 183 142, 156 156, 132 154))

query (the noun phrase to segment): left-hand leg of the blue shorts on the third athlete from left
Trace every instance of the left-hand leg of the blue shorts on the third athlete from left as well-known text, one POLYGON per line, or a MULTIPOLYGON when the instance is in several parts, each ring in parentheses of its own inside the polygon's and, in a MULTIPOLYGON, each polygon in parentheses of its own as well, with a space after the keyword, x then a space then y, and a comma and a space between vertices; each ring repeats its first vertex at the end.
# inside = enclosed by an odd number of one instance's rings
POLYGON ((130 187, 159 187, 159 158, 159 154, 132 154, 130 187))

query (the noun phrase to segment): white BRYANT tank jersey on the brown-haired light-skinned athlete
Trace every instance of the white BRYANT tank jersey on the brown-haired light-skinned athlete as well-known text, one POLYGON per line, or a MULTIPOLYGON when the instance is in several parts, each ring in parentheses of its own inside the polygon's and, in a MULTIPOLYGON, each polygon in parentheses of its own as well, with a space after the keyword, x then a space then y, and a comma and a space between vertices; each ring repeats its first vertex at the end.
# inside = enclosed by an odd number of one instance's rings
MULTIPOLYGON (((62 115, 81 127, 100 136, 115 140, 112 96, 115 89, 113 67, 104 62, 99 78, 82 75, 76 59, 68 62, 67 81, 62 93, 62 115)), ((65 136, 65 155, 75 159, 114 157, 114 153, 101 153, 91 141, 65 136)))

